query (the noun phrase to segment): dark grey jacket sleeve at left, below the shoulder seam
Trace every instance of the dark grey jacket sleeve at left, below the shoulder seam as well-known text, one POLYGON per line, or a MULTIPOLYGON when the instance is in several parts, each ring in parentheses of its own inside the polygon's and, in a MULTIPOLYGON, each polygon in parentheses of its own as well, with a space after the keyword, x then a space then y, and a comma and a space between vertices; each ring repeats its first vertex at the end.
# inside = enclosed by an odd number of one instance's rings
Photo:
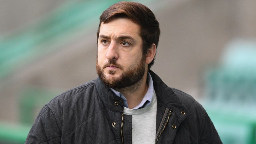
POLYGON ((45 105, 39 112, 34 125, 30 129, 25 144, 59 144, 61 132, 55 115, 45 105))

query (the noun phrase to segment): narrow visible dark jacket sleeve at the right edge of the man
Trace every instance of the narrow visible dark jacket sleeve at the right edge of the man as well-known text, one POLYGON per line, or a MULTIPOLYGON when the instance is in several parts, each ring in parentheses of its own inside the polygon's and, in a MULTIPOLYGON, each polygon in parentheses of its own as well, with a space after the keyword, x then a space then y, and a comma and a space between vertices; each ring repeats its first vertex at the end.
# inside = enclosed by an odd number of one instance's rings
POLYGON ((201 144, 222 144, 217 130, 215 129, 210 117, 203 109, 203 127, 201 129, 201 144))

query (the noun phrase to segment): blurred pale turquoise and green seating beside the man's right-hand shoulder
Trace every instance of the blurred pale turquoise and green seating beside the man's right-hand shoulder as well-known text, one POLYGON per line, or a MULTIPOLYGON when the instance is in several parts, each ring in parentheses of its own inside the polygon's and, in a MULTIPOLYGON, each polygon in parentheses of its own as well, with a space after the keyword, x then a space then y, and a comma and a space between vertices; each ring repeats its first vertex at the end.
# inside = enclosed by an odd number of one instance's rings
POLYGON ((204 107, 223 143, 256 143, 256 40, 237 39, 206 73, 204 107))

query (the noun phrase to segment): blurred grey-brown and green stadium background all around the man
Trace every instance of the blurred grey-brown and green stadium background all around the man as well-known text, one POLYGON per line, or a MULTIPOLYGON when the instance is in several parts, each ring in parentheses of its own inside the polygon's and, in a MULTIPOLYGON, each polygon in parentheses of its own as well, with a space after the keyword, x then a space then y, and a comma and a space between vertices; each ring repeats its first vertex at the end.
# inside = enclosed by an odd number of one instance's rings
MULTIPOLYGON (((0 0, 0 144, 95 79, 99 16, 118 0, 0 0)), ((160 23, 151 68, 206 109, 223 143, 256 144, 256 1, 138 0, 160 23)))

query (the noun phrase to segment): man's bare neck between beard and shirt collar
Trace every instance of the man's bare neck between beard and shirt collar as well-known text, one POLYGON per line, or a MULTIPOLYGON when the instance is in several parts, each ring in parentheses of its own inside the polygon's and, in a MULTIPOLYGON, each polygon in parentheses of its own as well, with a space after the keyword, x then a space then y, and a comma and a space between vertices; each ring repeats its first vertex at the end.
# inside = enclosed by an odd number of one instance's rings
POLYGON ((128 108, 132 109, 137 106, 143 99, 144 95, 147 93, 148 84, 147 84, 147 71, 145 71, 144 76, 136 84, 116 89, 119 91, 127 100, 128 108))

